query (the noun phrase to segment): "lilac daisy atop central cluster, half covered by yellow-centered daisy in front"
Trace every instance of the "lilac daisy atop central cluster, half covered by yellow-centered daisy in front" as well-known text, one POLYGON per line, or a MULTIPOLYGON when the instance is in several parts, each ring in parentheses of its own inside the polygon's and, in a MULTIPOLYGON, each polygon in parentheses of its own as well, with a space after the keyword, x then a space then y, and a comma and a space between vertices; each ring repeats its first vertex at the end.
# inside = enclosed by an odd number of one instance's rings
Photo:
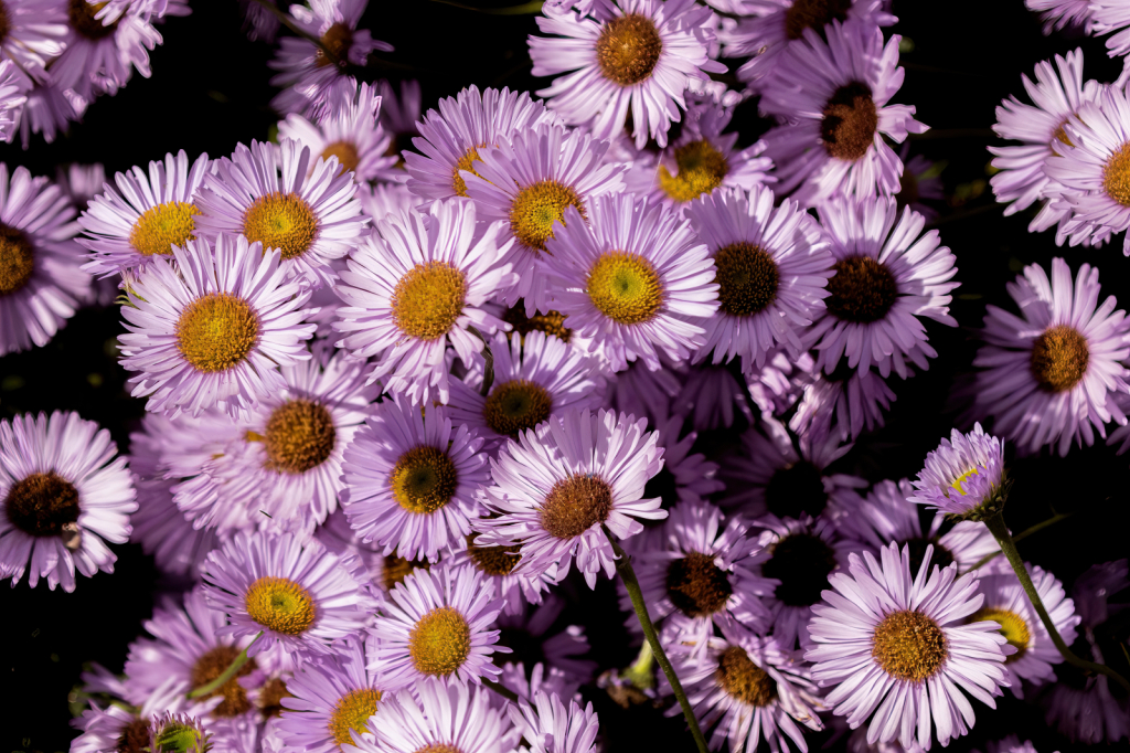
POLYGON ((438 107, 416 124, 419 137, 412 146, 420 154, 403 152, 408 189, 426 200, 468 196, 462 173, 477 174, 480 150, 485 154, 515 133, 560 122, 525 92, 507 88, 479 93, 471 85, 440 99, 438 107))

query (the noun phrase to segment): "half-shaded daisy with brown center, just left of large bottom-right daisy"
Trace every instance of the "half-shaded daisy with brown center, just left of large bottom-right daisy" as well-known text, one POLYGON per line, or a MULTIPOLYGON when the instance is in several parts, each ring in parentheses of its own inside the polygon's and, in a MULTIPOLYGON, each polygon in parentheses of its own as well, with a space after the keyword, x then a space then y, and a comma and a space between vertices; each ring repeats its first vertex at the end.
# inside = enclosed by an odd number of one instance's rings
MULTIPOLYGON (((790 742, 805 753, 802 727, 824 728, 820 693, 799 658, 773 638, 753 635, 676 647, 671 657, 703 730, 714 727, 711 748, 729 742, 733 753, 754 753, 762 739, 775 753, 789 753, 790 742)), ((678 712, 676 704, 667 715, 678 712)))

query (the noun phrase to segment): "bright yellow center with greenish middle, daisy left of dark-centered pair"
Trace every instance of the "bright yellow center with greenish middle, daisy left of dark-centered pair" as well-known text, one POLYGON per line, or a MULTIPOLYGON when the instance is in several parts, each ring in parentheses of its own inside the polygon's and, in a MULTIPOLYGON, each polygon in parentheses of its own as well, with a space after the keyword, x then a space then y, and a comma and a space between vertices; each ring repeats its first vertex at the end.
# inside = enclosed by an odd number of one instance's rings
POLYGON ((589 298, 620 324, 650 321, 663 305, 663 285, 651 261, 638 253, 606 251, 589 270, 589 298))

